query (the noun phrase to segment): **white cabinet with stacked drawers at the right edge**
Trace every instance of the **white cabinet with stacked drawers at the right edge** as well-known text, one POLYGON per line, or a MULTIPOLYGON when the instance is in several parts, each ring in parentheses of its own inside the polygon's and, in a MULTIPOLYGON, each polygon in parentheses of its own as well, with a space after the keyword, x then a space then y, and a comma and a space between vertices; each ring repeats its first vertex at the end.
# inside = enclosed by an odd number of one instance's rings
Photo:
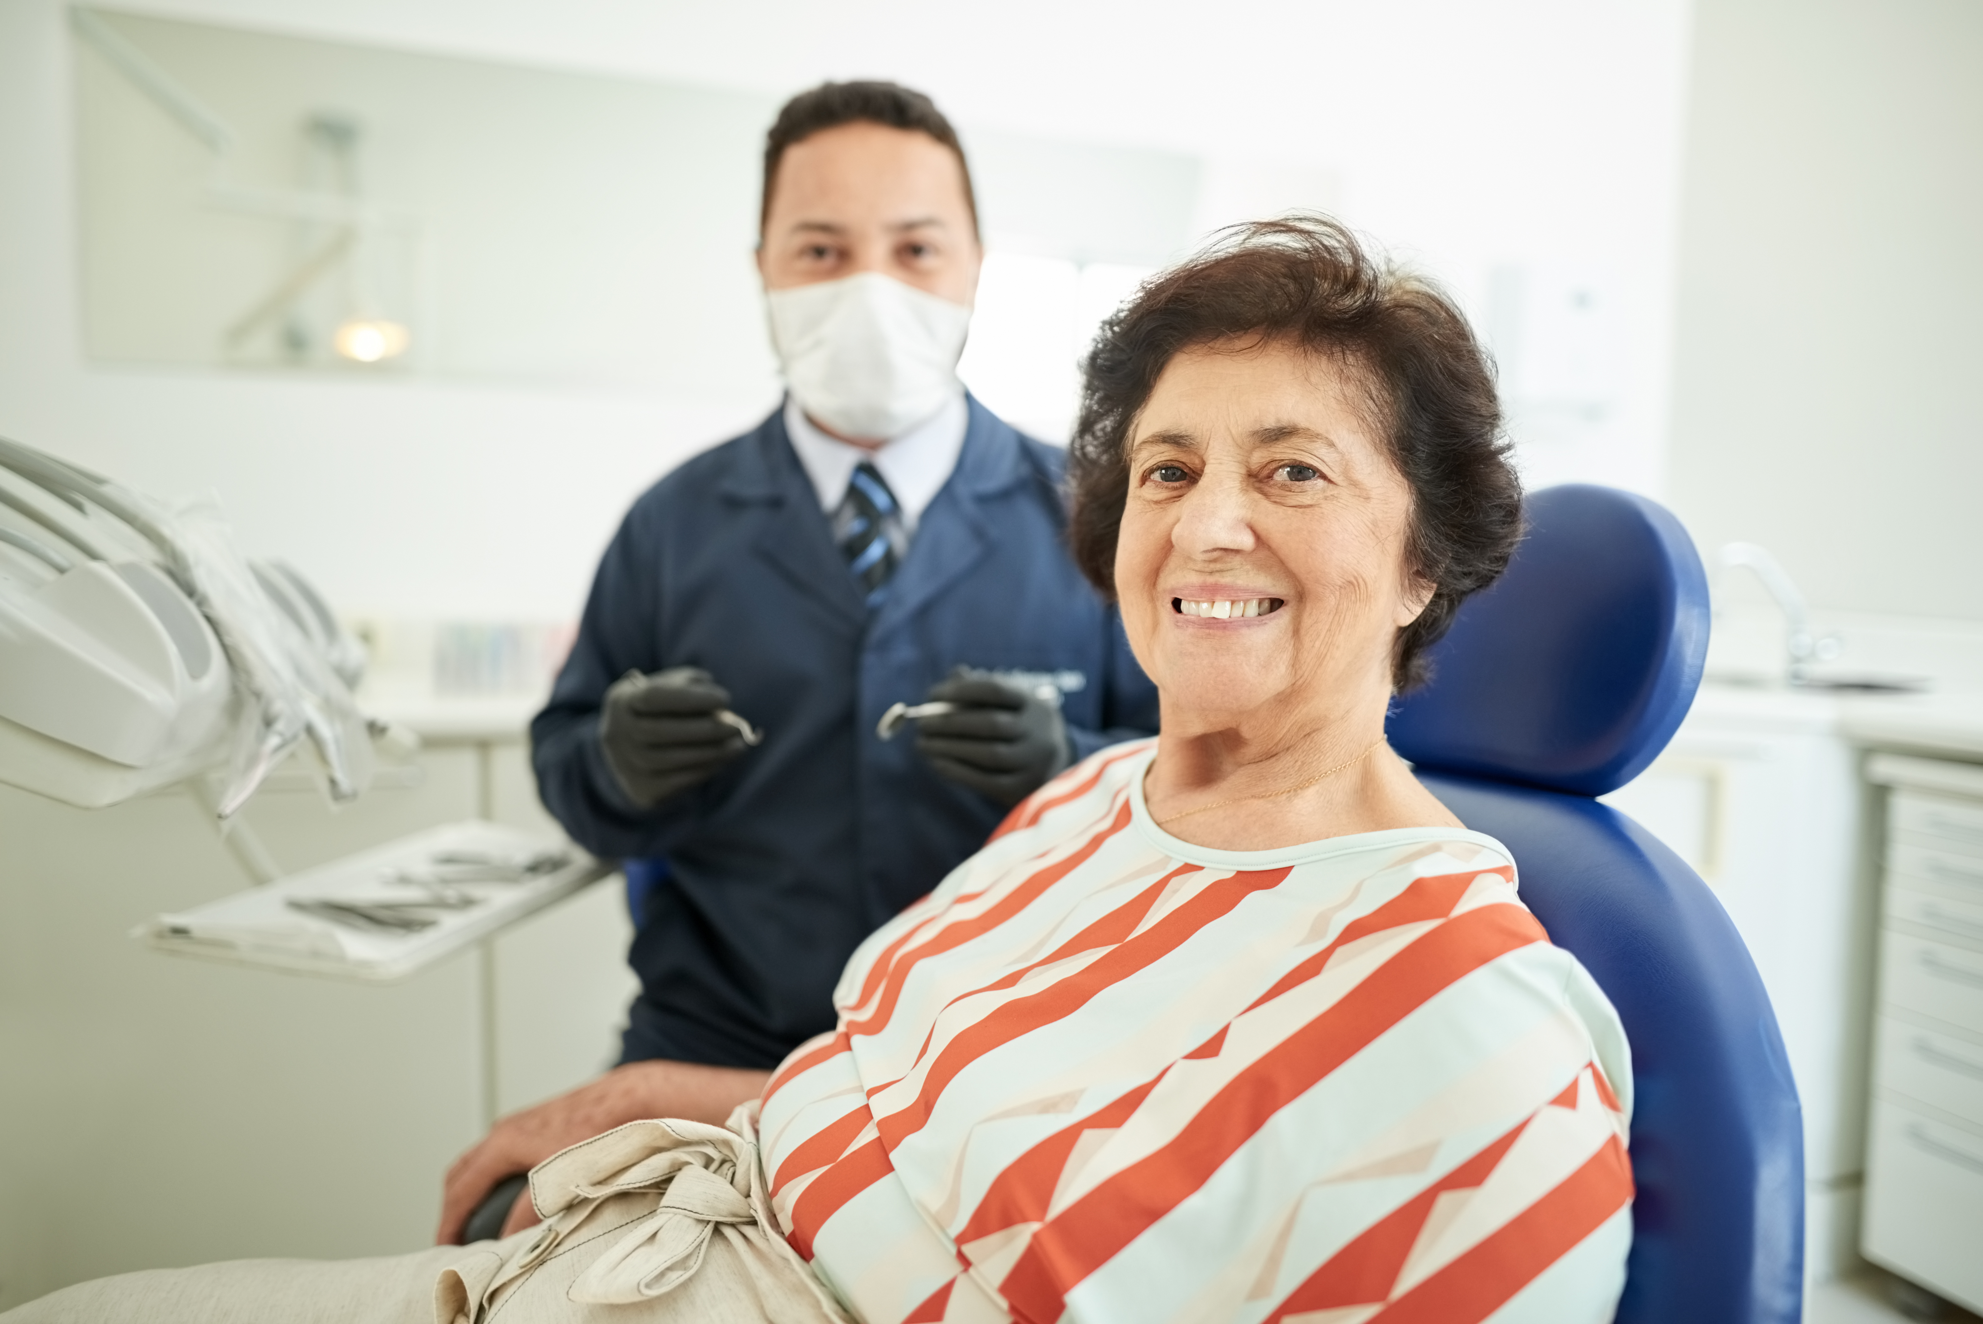
POLYGON ((1983 768, 1880 754, 1866 1257, 1983 1310, 1983 768))

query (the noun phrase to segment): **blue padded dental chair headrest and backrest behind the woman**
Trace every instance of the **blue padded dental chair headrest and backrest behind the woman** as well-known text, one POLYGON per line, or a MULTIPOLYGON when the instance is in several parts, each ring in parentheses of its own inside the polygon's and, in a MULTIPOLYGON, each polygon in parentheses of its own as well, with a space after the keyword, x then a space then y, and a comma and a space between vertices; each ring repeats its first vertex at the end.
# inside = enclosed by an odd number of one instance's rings
POLYGON ((1392 707, 1390 742, 1507 844, 1523 899, 1624 1020, 1638 1195, 1618 1324, 1795 1324, 1805 1143, 1777 1016, 1707 885, 1594 800, 1693 703, 1707 580, 1640 496, 1557 486, 1527 518, 1507 574, 1432 651, 1432 683, 1392 707))

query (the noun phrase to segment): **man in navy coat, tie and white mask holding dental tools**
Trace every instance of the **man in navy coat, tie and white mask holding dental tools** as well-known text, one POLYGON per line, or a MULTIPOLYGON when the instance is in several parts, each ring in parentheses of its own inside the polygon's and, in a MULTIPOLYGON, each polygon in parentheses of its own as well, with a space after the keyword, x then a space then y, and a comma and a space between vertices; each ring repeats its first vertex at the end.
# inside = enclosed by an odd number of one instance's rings
MULTIPOLYGON (((928 97, 825 83, 783 107, 758 270, 785 403, 635 502, 531 725, 565 830, 656 879, 621 1064, 464 1153, 442 1243, 579 1139, 722 1124, 833 1026, 861 939, 1047 778, 1156 728, 1116 611, 1069 558, 1061 453, 958 381, 982 260, 928 97), (918 699, 952 711, 880 740, 918 699)), ((525 1193, 504 1231, 531 1221, 525 1193)))

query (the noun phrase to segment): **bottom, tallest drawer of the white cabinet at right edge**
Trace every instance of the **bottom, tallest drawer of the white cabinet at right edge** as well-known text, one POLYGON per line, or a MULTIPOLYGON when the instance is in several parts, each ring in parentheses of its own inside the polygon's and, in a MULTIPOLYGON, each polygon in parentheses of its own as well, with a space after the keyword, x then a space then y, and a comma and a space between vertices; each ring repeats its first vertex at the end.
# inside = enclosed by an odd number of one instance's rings
POLYGON ((1983 1308, 1983 1135, 1874 1100, 1866 1139, 1866 1258, 1983 1308))

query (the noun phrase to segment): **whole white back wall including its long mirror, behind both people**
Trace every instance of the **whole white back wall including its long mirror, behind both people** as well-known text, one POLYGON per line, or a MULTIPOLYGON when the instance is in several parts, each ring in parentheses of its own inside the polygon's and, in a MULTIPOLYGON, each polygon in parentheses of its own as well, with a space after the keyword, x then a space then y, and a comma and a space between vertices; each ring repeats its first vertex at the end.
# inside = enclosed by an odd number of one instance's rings
MULTIPOLYGON (((16 0, 6 22, 0 425, 218 492, 343 611, 571 617, 627 502, 775 403, 761 135, 825 77, 906 81, 960 123, 992 254, 964 375, 1041 437, 1065 439, 1079 353, 1136 280, 1303 206, 1465 300, 1537 480, 1670 486, 1686 4, 823 24, 244 0, 71 32, 16 0), (286 300, 341 232, 270 197, 305 189, 349 191, 371 224, 286 300), (405 326, 405 351, 339 357, 353 318, 405 326)), ((1709 91, 1709 117, 1745 113, 1709 91)))

